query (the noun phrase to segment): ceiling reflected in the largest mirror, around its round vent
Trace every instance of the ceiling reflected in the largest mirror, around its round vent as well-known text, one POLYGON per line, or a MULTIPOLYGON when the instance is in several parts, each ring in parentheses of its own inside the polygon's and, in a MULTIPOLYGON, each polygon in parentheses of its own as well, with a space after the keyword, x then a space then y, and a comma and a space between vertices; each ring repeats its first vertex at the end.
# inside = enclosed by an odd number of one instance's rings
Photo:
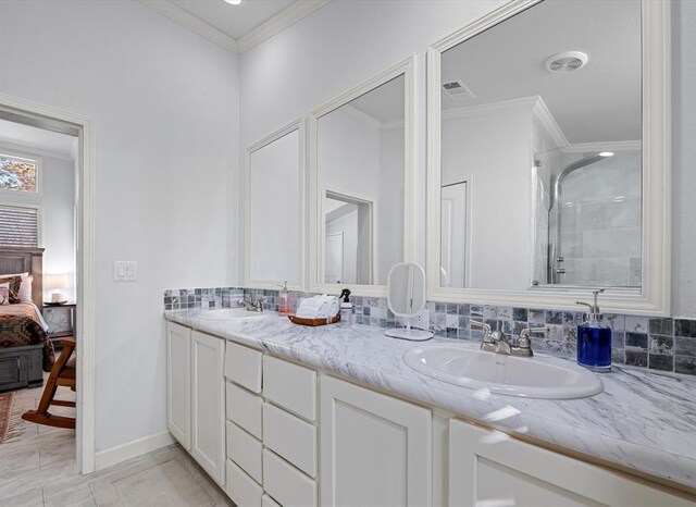
POLYGON ((641 139, 639 0, 546 0, 446 51, 442 70, 474 95, 443 92, 444 109, 538 95, 571 144, 641 139), (561 51, 589 61, 552 74, 544 63, 561 51))

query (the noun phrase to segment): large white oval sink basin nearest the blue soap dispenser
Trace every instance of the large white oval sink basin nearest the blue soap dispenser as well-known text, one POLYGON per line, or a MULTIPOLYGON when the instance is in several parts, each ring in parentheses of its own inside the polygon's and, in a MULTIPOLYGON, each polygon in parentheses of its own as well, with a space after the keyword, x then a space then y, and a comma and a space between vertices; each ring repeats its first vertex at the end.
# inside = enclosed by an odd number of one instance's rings
POLYGON ((406 351, 403 362, 443 382, 508 396, 573 399, 604 391, 595 373, 569 361, 504 356, 471 344, 418 346, 406 351))

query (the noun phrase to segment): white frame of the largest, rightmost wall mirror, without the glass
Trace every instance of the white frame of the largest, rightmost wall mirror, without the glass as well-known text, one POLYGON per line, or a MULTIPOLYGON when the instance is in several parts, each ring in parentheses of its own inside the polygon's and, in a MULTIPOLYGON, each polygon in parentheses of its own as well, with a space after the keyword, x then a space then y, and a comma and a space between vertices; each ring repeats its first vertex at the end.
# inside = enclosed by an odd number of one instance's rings
MULTIPOLYGON (((591 287, 499 290, 439 286, 442 53, 543 0, 513 0, 427 50, 427 299, 478 305, 579 311, 591 287)), ((607 312, 669 316, 671 292, 670 2, 642 0, 643 234, 642 288, 608 290, 607 312)), ((532 234, 532 232, 531 232, 532 234)), ((531 248, 531 247, 530 247, 531 248)), ((530 277, 531 280, 531 277, 530 277)))

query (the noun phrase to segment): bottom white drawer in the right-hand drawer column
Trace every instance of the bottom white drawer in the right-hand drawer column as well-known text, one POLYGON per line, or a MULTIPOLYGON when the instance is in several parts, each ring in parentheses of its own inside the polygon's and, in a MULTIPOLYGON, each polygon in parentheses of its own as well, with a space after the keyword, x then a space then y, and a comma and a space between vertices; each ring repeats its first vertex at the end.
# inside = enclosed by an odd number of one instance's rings
POLYGON ((263 449, 263 487, 284 507, 315 507, 316 482, 263 449))

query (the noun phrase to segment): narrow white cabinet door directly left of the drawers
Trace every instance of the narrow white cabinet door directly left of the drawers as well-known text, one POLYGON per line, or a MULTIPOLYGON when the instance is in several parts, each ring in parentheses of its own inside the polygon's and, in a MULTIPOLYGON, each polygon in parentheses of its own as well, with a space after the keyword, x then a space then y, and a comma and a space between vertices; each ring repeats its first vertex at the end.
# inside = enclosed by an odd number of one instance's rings
POLYGON ((191 456, 225 483, 225 342, 191 333, 191 456))

